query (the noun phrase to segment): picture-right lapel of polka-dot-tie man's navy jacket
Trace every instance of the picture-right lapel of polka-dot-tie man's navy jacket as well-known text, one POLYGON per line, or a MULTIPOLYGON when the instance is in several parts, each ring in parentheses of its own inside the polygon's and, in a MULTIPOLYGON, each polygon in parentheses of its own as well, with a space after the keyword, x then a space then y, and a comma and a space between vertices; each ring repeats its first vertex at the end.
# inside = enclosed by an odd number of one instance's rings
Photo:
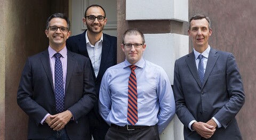
POLYGON ((76 60, 73 58, 75 54, 71 51, 68 51, 68 62, 67 62, 67 76, 66 76, 66 88, 67 91, 68 84, 70 82, 71 75, 73 74, 76 60))

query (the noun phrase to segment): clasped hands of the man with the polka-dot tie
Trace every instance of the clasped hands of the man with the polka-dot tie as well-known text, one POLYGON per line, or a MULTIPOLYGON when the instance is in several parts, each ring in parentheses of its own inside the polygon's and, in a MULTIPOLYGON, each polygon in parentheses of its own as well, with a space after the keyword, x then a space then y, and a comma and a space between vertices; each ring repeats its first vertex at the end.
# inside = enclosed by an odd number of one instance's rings
POLYGON ((71 118, 72 113, 69 110, 66 110, 55 115, 49 115, 44 121, 53 130, 61 130, 65 127, 65 125, 67 125, 71 118))

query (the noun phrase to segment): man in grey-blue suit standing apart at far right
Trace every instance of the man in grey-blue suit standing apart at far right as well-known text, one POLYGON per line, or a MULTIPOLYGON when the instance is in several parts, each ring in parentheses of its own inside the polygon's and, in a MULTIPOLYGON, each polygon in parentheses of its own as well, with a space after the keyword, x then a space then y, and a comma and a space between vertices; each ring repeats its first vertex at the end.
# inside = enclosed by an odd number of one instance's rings
POLYGON ((235 116, 245 100, 241 75, 233 54, 208 45, 209 17, 189 20, 194 50, 176 60, 174 98, 185 139, 242 139, 235 116))

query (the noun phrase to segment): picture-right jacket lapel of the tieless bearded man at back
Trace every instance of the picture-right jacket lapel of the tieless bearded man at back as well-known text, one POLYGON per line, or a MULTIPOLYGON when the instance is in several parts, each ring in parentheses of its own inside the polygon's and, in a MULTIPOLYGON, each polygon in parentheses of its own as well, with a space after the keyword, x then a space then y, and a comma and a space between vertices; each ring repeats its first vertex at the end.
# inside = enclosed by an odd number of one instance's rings
POLYGON ((100 75, 103 72, 103 68, 105 67, 106 61, 109 56, 110 51, 110 42, 108 38, 103 33, 103 42, 102 42, 102 52, 101 52, 101 60, 100 60, 100 69, 98 75, 100 75))

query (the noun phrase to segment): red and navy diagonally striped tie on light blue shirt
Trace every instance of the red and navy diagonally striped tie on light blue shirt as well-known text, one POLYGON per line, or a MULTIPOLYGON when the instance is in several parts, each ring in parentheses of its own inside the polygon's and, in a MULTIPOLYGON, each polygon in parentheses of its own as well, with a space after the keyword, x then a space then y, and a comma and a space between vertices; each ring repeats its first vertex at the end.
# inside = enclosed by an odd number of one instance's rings
POLYGON ((127 110, 127 121, 131 125, 135 125, 138 121, 138 108, 137 108, 137 79, 134 69, 136 65, 130 65, 131 74, 129 77, 128 84, 128 110, 127 110))

